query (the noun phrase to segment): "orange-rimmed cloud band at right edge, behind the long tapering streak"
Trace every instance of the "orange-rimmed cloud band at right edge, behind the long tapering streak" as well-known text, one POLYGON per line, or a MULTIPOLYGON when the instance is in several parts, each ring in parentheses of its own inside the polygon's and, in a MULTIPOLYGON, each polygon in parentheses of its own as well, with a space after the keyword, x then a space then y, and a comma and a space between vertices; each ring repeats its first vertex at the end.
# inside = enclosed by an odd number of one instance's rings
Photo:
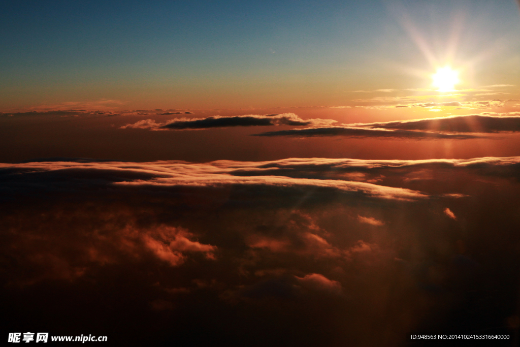
MULTIPOLYGON (((227 162, 226 162, 227 163, 227 162)), ((228 165, 228 164, 226 164, 228 165)), ((288 176, 314 179, 345 179, 402 186, 404 182, 431 182, 444 174, 476 174, 484 177, 518 177, 520 158, 429 159, 429 160, 361 160, 328 158, 290 158, 238 165, 230 171, 238 176, 288 176), (398 179, 398 183, 394 181, 398 179)), ((477 178, 473 178, 477 179, 477 178)), ((479 178, 480 179, 480 178, 479 178)), ((416 185, 427 189, 422 185, 416 185)))

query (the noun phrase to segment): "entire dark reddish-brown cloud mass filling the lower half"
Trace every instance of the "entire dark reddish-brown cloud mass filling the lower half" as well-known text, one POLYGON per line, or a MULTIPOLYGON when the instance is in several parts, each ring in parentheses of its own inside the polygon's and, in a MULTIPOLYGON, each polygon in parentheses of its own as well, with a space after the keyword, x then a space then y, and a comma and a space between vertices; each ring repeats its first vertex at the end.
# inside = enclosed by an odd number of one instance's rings
POLYGON ((92 333, 125 346, 512 336, 519 163, 2 164, 4 336, 92 333))

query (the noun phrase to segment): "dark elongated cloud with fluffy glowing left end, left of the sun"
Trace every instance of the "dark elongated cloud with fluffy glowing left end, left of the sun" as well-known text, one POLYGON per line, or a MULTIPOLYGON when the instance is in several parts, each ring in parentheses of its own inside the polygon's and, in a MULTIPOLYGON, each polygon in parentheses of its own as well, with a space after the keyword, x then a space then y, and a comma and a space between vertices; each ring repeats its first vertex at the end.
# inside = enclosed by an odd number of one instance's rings
POLYGON ((178 118, 167 121, 165 123, 156 123, 154 120, 141 120, 134 124, 122 126, 126 128, 141 128, 151 130, 193 130, 207 129, 215 127, 232 127, 232 126, 270 126, 270 125, 325 125, 332 124, 336 121, 328 119, 310 119, 303 120, 294 113, 269 114, 269 115, 237 115, 231 117, 222 117, 215 115, 207 118, 178 118))

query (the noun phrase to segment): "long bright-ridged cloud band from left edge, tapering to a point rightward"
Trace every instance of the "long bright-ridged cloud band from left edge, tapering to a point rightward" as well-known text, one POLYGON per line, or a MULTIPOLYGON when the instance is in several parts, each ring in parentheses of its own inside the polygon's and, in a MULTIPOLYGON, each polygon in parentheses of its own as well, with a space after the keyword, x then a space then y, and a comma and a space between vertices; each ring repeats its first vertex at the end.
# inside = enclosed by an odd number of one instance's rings
MULTIPOLYGON (((218 191, 224 190, 237 198, 251 198, 259 190, 262 196, 284 201, 288 198, 301 197, 308 189, 313 190, 315 199, 336 199, 355 197, 356 199, 390 199, 413 201, 427 199, 428 195, 420 191, 379 186, 366 182, 344 181, 337 179, 294 178, 283 175, 240 175, 244 169, 252 170, 251 165, 241 162, 220 161, 209 164, 192 164, 178 161, 152 163, 120 162, 34 162, 22 164, 0 164, 2 178, 9 182, 5 191, 23 194, 24 187, 38 187, 38 182, 45 191, 85 191, 91 188, 121 191, 121 194, 144 189, 151 191, 218 191), (285 193, 284 193, 285 192, 285 193), (290 194, 289 194, 290 193, 290 194), (327 198, 328 196, 328 198, 327 198)), ((42 189, 42 188, 40 188, 42 189)), ((94 189, 94 191, 96 191, 94 189)))

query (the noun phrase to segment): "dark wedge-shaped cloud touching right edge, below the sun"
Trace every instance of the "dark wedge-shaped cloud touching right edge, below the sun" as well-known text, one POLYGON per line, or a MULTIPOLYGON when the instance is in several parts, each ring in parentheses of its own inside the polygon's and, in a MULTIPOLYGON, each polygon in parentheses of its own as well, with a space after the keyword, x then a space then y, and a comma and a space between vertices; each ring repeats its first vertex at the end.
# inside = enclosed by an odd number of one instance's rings
POLYGON ((517 132, 520 131, 520 116, 495 117, 493 115, 470 114, 443 118, 355 125, 370 128, 457 133, 517 132))

